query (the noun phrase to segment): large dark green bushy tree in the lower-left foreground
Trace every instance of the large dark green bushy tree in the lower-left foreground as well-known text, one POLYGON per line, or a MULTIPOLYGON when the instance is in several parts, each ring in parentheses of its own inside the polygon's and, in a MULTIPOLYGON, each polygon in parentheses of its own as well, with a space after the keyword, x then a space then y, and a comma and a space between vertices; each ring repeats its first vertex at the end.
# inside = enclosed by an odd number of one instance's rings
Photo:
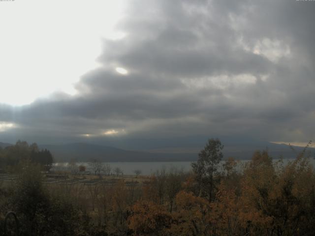
POLYGON ((55 194, 43 184, 42 167, 25 161, 17 168, 9 206, 18 215, 20 235, 82 235, 83 222, 77 207, 68 195, 55 194))

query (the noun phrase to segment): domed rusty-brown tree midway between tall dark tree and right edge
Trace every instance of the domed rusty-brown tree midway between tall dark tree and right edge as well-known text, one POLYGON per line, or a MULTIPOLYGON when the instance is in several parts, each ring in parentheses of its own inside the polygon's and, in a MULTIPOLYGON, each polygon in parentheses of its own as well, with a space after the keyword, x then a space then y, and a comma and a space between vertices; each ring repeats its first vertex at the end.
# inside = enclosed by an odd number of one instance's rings
POLYGON ((245 165, 241 179, 239 204, 242 208, 239 216, 244 234, 261 232, 262 235, 273 235, 270 210, 275 209, 272 202, 277 181, 278 176, 268 151, 255 151, 252 160, 245 165))

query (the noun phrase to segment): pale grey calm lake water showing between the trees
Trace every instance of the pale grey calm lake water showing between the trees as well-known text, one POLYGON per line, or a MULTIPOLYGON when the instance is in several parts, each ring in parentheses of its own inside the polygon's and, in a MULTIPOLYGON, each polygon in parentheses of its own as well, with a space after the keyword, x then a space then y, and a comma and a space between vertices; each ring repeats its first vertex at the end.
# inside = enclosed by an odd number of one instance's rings
MULTIPOLYGON (((284 165, 286 165, 289 161, 293 161, 294 159, 284 159, 284 165)), ((274 163, 278 160, 275 159, 274 163)), ((237 169, 241 169, 242 165, 244 165, 248 160, 241 160, 238 162, 237 169)), ((315 160, 310 158, 310 162, 313 166, 315 166, 315 160)), ((221 162, 223 164, 224 161, 221 162)), ((120 168, 124 175, 134 175, 135 170, 140 170, 141 175, 152 175, 157 171, 165 169, 167 172, 172 168, 176 168, 177 170, 183 170, 184 172, 189 172, 191 170, 191 162, 190 161, 179 161, 179 162, 108 162, 104 163, 110 165, 112 172, 114 172, 115 168, 120 168)), ((77 165, 84 165, 87 171, 91 171, 90 163, 88 162, 78 162, 77 165)), ((55 163, 52 170, 66 170, 69 169, 68 163, 55 163)))

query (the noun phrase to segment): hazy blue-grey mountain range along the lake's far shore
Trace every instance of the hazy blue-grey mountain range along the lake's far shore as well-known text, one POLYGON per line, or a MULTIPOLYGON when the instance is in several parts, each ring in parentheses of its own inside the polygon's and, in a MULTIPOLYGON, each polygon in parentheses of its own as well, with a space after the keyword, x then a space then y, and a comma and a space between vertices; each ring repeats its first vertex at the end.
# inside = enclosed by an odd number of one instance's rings
MULTIPOLYGON (((87 143, 74 143, 65 145, 40 145, 40 148, 49 149, 56 161, 69 161, 71 158, 77 161, 89 161, 99 159, 102 161, 194 161, 198 157, 201 148, 153 149, 146 151, 124 150, 120 148, 106 147, 87 143)), ((224 157, 235 159, 250 159, 255 150, 268 149, 273 158, 295 158, 303 148, 294 147, 295 152, 284 144, 258 143, 258 144, 237 144, 226 145, 223 149, 224 157)), ((308 148, 314 156, 315 148, 308 148)))

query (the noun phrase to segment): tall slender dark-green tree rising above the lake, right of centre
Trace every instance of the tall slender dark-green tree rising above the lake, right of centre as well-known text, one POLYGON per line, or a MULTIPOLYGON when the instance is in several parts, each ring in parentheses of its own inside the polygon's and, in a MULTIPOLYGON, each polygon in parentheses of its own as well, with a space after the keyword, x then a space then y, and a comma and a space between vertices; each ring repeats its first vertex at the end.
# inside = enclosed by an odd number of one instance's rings
POLYGON ((219 139, 209 139, 205 148, 199 152, 198 160, 191 163, 200 192, 207 196, 209 202, 215 195, 214 176, 217 174, 218 165, 223 158, 222 149, 223 145, 219 139))

